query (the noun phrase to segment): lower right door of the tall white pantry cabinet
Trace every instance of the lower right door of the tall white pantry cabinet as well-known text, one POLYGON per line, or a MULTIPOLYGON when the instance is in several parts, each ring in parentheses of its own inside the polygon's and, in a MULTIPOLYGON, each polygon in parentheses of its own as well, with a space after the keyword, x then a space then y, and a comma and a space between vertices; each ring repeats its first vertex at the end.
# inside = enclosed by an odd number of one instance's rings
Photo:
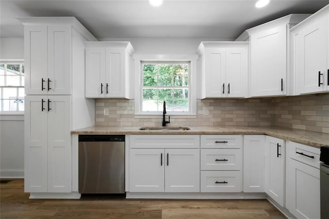
POLYGON ((48 99, 48 192, 70 192, 71 96, 48 95, 48 99))

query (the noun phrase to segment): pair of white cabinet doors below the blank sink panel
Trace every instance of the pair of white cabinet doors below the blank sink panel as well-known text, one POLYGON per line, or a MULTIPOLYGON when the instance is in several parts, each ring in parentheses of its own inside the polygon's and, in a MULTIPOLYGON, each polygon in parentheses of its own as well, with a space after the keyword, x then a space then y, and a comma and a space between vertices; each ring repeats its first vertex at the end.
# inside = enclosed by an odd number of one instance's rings
POLYGON ((199 149, 130 149, 130 192, 199 192, 199 157, 199 149))

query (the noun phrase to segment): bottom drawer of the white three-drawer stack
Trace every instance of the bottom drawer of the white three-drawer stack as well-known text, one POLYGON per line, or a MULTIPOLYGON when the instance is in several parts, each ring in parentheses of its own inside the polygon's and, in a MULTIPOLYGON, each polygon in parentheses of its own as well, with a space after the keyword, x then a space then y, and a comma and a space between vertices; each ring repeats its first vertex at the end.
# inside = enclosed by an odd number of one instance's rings
POLYGON ((201 171, 201 192, 241 192, 242 171, 201 171))

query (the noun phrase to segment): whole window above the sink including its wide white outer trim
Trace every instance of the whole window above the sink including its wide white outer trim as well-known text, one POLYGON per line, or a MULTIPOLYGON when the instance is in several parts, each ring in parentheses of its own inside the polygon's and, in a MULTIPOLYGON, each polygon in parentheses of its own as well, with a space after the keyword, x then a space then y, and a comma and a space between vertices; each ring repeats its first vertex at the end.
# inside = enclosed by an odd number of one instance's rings
POLYGON ((197 55, 136 54, 135 115, 195 116, 197 55))

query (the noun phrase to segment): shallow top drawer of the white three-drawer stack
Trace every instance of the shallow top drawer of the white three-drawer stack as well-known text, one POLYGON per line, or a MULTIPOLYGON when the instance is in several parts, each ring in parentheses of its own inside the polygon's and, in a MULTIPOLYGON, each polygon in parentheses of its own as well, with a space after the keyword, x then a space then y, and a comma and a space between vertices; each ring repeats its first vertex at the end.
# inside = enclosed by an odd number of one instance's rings
POLYGON ((201 148, 242 148, 242 135, 201 135, 201 148))

